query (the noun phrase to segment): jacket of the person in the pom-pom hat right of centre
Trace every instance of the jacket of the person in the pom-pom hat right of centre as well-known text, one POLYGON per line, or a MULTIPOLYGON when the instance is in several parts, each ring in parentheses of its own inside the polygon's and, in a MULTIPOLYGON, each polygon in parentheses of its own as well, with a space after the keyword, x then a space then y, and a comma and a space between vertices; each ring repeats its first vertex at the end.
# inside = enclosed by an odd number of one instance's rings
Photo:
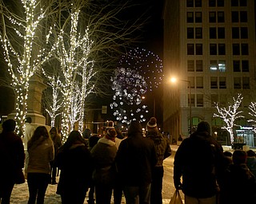
POLYGON ((170 143, 159 131, 148 131, 146 138, 154 142, 154 147, 158 155, 158 161, 155 167, 162 167, 163 160, 171 155, 170 143))

